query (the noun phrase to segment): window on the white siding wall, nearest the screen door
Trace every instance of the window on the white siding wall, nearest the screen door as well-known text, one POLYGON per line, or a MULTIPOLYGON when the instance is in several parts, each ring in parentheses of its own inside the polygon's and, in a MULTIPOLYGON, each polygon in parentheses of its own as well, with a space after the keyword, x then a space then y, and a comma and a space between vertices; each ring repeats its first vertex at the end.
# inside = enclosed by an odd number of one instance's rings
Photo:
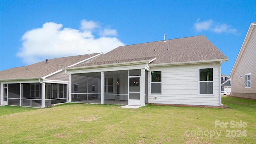
POLYGON ((150 83, 151 83, 151 93, 161 94, 162 93, 162 72, 152 71, 150 83))

